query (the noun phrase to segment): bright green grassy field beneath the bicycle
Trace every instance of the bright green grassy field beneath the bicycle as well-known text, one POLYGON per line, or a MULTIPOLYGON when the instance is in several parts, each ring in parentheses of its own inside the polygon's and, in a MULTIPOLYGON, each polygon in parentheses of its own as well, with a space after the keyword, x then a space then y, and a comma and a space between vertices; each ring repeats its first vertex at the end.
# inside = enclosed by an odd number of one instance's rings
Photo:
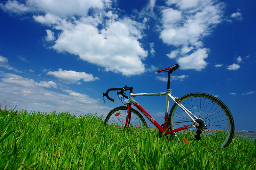
POLYGON ((0 169, 256 169, 256 142, 177 143, 150 129, 105 129, 96 114, 0 111, 0 169))

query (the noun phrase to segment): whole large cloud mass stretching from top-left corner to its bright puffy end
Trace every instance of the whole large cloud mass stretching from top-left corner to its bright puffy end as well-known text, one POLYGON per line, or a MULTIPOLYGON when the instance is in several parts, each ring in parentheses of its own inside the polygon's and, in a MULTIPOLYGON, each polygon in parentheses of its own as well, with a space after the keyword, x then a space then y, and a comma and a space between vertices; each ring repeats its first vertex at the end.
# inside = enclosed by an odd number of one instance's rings
POLYGON ((50 26, 45 40, 54 41, 52 48, 58 52, 79 55, 106 71, 125 76, 141 74, 145 71, 142 60, 148 55, 139 42, 145 26, 129 17, 119 17, 111 4, 110 0, 9 0, 1 8, 12 13, 34 13, 35 21, 50 26))

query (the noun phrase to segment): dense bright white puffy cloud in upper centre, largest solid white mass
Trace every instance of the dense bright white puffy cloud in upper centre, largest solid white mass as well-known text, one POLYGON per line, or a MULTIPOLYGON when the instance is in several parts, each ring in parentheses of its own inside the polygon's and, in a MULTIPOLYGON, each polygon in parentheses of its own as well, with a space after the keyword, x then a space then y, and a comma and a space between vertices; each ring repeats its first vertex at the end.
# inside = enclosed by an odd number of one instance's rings
POLYGON ((99 33, 96 26, 88 23, 88 19, 76 21, 71 29, 62 29, 53 48, 79 55, 81 59, 104 67, 106 71, 120 72, 125 76, 145 71, 145 64, 141 60, 148 53, 138 41, 142 38, 143 25, 129 18, 118 21, 111 19, 106 29, 99 33))

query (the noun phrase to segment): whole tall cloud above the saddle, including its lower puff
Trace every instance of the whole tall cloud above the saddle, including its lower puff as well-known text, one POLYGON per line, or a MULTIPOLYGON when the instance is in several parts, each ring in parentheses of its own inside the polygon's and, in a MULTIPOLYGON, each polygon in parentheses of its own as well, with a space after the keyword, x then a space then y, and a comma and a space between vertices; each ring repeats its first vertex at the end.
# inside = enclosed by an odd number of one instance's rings
POLYGON ((176 59, 181 69, 204 69, 209 50, 204 48, 203 38, 223 20, 224 3, 168 0, 166 4, 168 8, 162 11, 160 38, 176 48, 167 56, 176 59))

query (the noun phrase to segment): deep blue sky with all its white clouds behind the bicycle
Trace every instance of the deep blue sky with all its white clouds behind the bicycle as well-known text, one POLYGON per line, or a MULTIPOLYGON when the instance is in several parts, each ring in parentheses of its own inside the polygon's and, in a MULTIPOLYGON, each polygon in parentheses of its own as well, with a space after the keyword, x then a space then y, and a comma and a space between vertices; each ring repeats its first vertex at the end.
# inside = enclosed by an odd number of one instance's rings
MULTIPOLYGON (((0 103, 28 110, 107 115, 108 88, 176 97, 205 92, 254 130, 255 1, 0 1, 0 103)), ((165 97, 136 98, 159 123, 165 97)), ((172 103, 170 103, 170 107, 172 103)))

